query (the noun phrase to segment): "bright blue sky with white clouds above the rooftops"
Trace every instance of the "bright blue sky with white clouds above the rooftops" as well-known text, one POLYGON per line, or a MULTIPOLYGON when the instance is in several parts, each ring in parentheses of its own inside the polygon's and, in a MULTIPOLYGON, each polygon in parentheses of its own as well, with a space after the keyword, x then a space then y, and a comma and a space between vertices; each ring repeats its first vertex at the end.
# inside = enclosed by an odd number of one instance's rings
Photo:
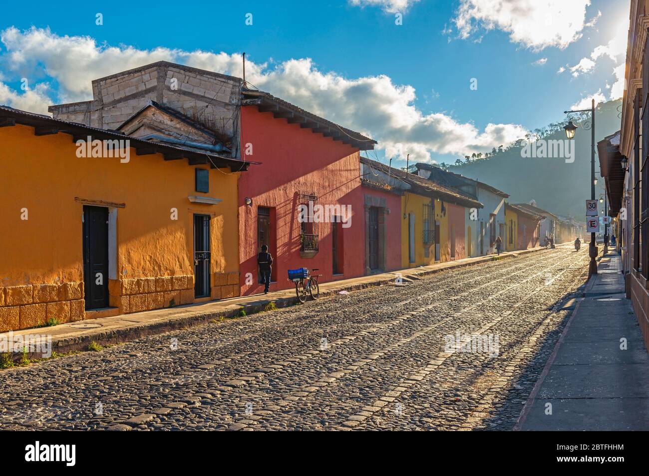
POLYGON ((90 79, 160 55, 237 74, 236 53, 245 51, 256 86, 372 134, 380 155, 448 161, 562 119, 584 97, 621 92, 613 68, 624 64, 629 1, 547 1, 554 5, 509 14, 496 10, 530 1, 12 2, 0 18, 0 103, 33 109, 48 99, 90 99, 90 79), (554 18, 543 18, 548 11, 554 18), (103 25, 95 24, 97 13, 103 25), (458 19, 469 22, 464 31, 458 19), (581 25, 574 30, 567 20, 581 25), (603 51, 614 38, 617 51, 603 51), (203 53, 214 55, 204 60, 203 53), (299 73, 287 68, 290 60, 302 60, 292 64, 299 73), (22 78, 31 97, 21 97, 22 78))

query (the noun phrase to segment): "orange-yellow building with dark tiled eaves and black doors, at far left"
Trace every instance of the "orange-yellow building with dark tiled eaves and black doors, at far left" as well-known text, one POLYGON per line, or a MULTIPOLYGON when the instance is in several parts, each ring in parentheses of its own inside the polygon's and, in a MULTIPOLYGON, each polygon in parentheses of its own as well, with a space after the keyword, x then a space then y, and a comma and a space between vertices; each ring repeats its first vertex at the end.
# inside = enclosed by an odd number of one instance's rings
POLYGON ((0 332, 238 295, 249 164, 0 106, 0 332))

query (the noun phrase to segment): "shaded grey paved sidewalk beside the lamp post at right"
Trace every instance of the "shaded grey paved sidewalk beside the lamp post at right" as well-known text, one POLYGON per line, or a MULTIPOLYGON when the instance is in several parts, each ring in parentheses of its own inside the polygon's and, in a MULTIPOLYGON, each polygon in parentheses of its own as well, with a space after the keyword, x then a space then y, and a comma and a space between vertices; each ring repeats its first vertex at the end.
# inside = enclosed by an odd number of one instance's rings
POLYGON ((649 355, 621 269, 615 251, 598 263, 515 429, 649 430, 649 355))

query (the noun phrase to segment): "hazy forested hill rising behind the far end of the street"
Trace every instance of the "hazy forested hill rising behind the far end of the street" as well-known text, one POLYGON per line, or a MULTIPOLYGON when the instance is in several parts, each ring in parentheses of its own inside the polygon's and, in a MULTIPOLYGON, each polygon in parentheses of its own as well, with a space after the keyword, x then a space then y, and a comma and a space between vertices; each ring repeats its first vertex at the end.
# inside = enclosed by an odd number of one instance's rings
MULTIPOLYGON (((604 193, 604 179, 600 176, 600 164, 596 144, 604 137, 620 129, 622 100, 608 101, 595 110, 595 197, 604 193)), ((574 162, 566 163, 565 157, 522 157, 522 142, 494 149, 491 154, 459 159, 461 165, 448 166, 448 170, 465 177, 485 182, 510 195, 509 203, 529 203, 535 200, 537 207, 561 216, 585 219, 585 201, 591 197, 591 131, 587 128, 590 114, 573 118, 578 129, 574 135, 574 162)), ((537 129, 534 138, 565 140, 563 126, 567 121, 552 123, 537 129)), ((537 142, 536 147, 541 147, 537 142)), ((565 144, 565 143, 564 143, 565 144)), ((534 145, 534 144, 533 144, 534 145)), ((524 155, 524 154, 523 154, 524 155)))

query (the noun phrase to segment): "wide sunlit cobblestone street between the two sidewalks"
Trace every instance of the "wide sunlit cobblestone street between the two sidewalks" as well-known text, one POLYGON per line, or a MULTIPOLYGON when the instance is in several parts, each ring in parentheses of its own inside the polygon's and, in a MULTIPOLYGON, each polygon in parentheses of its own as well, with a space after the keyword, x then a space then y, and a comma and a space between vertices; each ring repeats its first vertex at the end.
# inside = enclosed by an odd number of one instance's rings
POLYGON ((510 430, 587 264, 558 247, 1 371, 0 429, 510 430), (458 332, 497 355, 447 352, 458 332))

